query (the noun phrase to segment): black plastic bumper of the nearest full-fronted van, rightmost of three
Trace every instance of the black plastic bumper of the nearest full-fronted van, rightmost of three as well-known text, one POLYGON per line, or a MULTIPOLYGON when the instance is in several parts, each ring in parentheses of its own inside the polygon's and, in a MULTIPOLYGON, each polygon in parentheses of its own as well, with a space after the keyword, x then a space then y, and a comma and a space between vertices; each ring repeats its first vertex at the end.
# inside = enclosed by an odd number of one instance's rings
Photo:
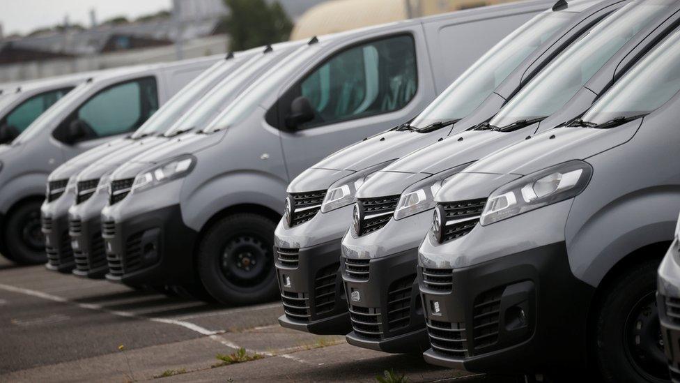
POLYGON ((463 269, 419 266, 418 282, 428 363, 486 373, 586 368, 594 288, 571 273, 564 242, 463 269))

